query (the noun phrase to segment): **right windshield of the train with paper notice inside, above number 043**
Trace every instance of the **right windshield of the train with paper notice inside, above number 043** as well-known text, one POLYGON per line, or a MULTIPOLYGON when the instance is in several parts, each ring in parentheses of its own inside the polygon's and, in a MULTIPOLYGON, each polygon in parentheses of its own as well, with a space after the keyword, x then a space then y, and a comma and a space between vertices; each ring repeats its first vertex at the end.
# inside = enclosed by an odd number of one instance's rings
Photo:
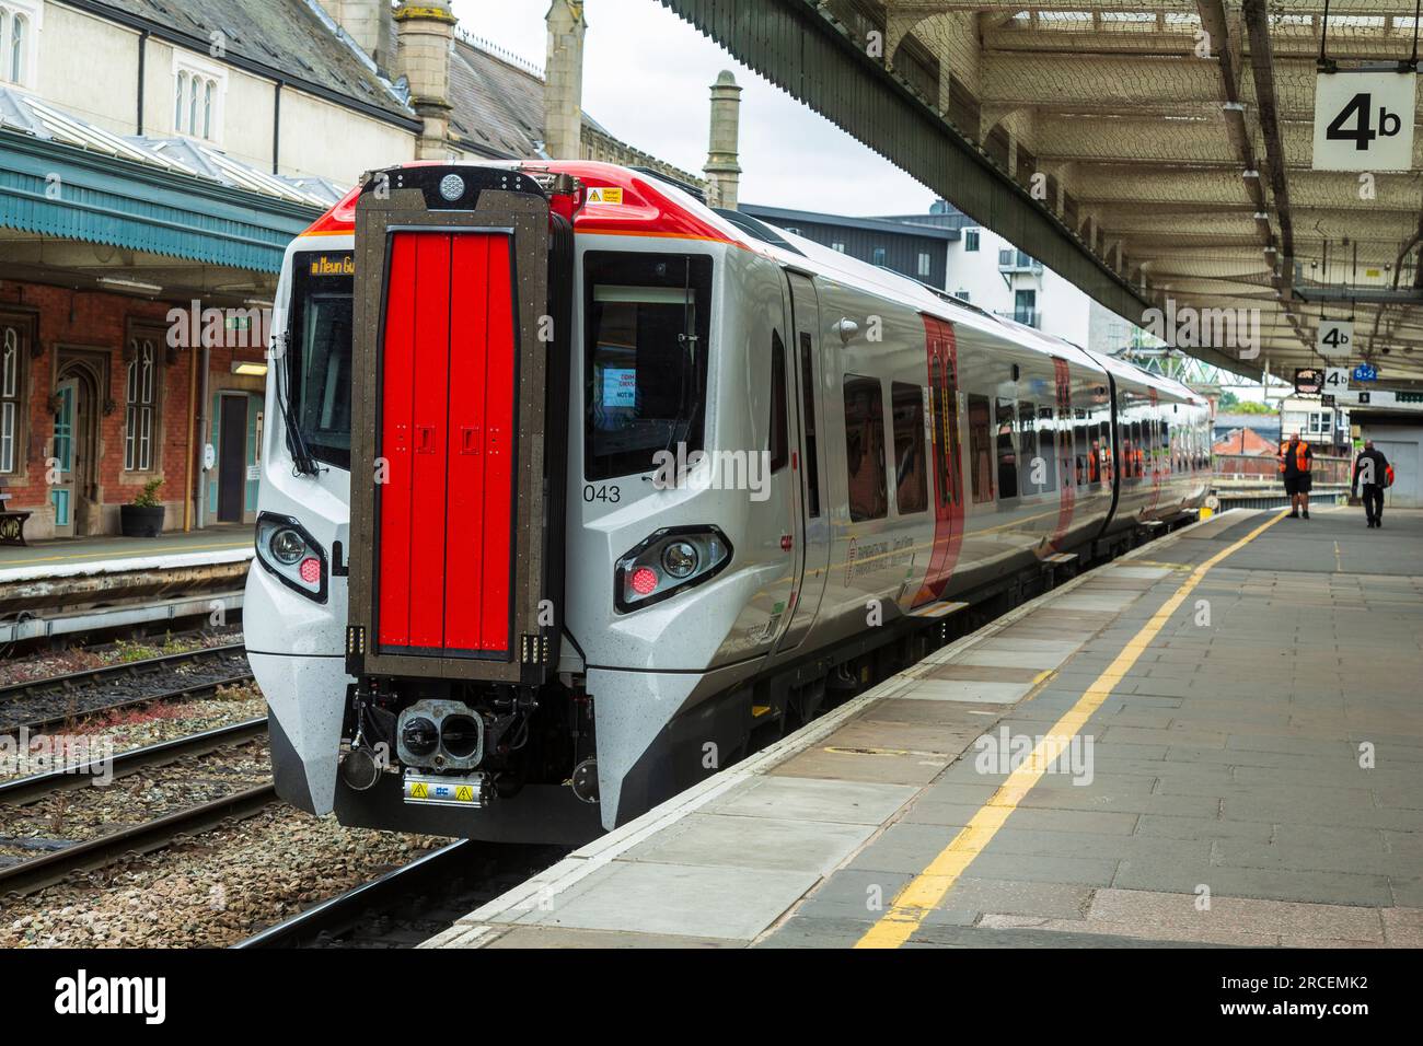
POLYGON ((679 444, 702 450, 712 259, 591 250, 583 286, 586 478, 646 472, 679 444))

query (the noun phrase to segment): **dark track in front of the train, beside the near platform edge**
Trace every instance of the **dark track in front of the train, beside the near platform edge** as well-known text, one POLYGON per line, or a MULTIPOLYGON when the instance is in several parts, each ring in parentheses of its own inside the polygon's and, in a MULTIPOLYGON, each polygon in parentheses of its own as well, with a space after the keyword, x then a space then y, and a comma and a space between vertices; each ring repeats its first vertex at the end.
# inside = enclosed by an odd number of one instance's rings
POLYGON ((566 854, 460 840, 233 948, 414 948, 566 854))

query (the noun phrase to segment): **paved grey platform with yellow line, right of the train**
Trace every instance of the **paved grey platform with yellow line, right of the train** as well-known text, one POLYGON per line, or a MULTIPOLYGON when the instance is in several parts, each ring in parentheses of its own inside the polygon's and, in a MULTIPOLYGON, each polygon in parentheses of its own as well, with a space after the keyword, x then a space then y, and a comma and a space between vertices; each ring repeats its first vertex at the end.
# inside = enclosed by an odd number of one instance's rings
POLYGON ((1423 946, 1423 514, 1237 509, 428 941, 1423 946))

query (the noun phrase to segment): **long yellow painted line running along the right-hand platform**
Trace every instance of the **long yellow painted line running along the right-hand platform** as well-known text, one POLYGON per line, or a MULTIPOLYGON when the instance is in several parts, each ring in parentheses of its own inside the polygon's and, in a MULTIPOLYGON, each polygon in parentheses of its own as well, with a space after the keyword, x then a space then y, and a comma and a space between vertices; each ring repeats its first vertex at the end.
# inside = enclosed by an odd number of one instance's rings
POLYGON ((865 931, 865 935, 855 942, 855 948, 898 948, 909 939, 924 922, 924 918, 953 888, 953 884, 963 875, 965 870, 973 862, 973 858, 983 852, 985 847, 992 842, 1009 814, 1017 810, 1017 804, 1032 791, 1047 767, 1067 750, 1072 739, 1087 724, 1087 720, 1101 707, 1103 702, 1111 696, 1113 687, 1121 683, 1127 672, 1131 670, 1131 666, 1151 646, 1151 640, 1165 628, 1171 615, 1185 602, 1191 591, 1201 583, 1205 572, 1284 518, 1285 514, 1281 511, 1274 519, 1262 522, 1234 545, 1217 552, 1191 571, 1191 576, 1181 582, 1181 586, 1161 605, 1161 609, 1153 615, 1151 620, 1143 625, 1141 630, 1127 642, 1121 653, 1093 680, 1091 686, 1077 699, 1077 703, 1053 724, 1053 729, 1033 749, 1025 763, 1007 776, 1007 780, 973 814, 968 825, 953 837, 953 841, 939 851, 938 857, 895 895, 889 911, 865 931))

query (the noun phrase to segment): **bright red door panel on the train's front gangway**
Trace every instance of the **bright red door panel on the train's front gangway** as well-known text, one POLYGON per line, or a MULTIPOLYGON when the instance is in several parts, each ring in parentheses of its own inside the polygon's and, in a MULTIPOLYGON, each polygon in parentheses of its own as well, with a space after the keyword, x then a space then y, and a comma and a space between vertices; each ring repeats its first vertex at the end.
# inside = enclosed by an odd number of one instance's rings
POLYGON ((377 633, 511 652, 514 299, 502 233, 393 235, 381 356, 377 633))

